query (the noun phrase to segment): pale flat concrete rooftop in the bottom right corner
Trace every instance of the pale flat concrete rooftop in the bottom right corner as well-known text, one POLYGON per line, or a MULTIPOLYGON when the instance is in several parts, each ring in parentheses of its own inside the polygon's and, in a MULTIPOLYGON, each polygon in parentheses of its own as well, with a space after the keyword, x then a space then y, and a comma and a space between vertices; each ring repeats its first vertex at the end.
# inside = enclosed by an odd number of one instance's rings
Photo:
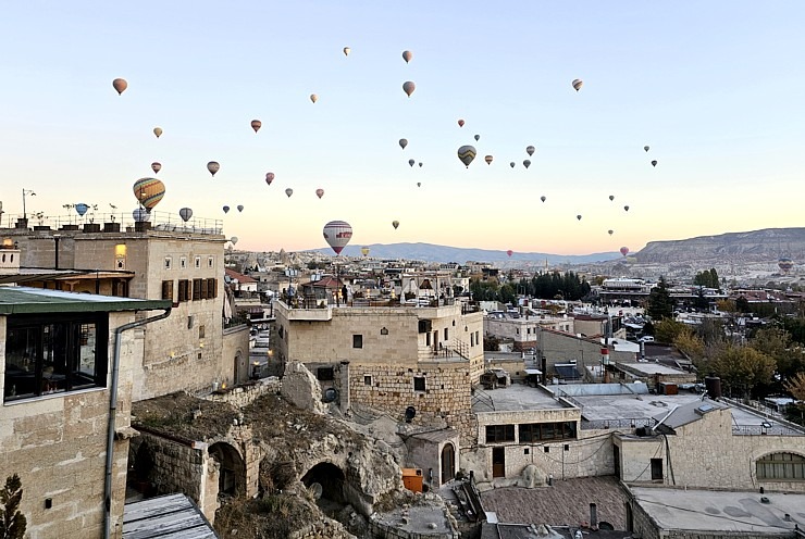
POLYGON ((666 488, 630 489, 662 529, 779 534, 805 523, 805 493, 735 492, 666 488), (769 503, 760 501, 766 497, 769 503), (791 521, 785 521, 785 514, 791 521))

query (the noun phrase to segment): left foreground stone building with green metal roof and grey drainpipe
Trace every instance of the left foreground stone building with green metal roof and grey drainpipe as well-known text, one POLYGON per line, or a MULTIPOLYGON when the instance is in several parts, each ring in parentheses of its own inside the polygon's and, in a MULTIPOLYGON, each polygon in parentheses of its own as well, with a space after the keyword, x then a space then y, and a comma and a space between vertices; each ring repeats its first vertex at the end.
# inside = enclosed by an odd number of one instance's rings
POLYGON ((0 475, 22 479, 30 537, 120 537, 141 340, 170 309, 0 287, 0 475))

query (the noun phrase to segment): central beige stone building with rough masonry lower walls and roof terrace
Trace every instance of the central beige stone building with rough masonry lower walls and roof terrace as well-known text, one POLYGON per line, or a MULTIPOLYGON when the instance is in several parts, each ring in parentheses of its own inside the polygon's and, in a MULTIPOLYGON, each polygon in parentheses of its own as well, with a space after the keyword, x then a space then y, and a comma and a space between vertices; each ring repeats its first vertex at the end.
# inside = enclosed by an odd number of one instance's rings
MULTIPOLYGON (((439 306, 294 309, 274 304, 276 354, 299 361, 342 406, 366 404, 416 423, 455 427, 474 438, 471 388, 484 368, 482 315, 460 303, 439 306)), ((326 393, 326 391, 325 391, 326 393)), ((458 451, 458 448, 456 448, 458 451)))

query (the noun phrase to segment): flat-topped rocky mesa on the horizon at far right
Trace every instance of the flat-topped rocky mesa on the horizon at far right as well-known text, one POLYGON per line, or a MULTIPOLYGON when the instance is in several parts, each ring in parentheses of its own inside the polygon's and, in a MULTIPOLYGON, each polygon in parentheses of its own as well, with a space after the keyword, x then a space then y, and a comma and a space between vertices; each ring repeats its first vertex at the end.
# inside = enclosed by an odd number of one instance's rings
POLYGON ((805 260, 805 228, 765 228, 747 233, 649 241, 634 253, 639 264, 677 262, 768 262, 781 256, 805 260))

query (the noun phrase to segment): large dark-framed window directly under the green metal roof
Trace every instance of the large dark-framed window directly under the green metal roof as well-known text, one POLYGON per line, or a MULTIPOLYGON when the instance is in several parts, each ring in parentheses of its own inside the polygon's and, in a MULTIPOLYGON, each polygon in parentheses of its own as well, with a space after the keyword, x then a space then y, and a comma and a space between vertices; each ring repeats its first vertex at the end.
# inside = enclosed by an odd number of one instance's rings
POLYGON ((107 313, 10 317, 4 400, 107 385, 107 313))

